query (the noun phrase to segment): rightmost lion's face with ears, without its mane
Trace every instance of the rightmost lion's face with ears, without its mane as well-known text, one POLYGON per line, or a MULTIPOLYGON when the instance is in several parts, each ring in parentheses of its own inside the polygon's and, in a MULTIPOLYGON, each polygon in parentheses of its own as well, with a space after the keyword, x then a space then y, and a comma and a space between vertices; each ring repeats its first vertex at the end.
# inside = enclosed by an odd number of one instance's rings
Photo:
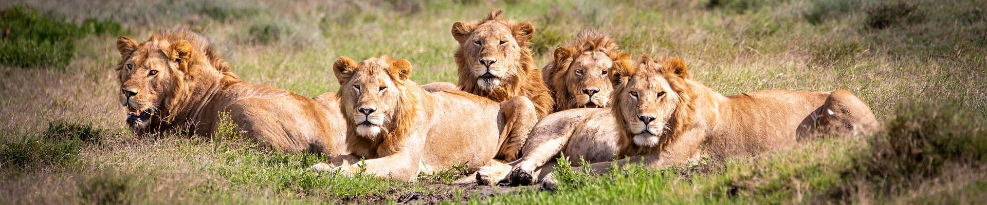
MULTIPOLYGON (((637 71, 621 82, 615 82, 618 90, 613 94, 615 109, 619 112, 619 120, 623 120, 626 129, 638 146, 654 147, 659 144, 660 137, 674 128, 676 112, 683 105, 683 96, 676 89, 681 87, 682 77, 673 66, 679 64, 664 63, 643 58, 637 71)), ((673 60, 672 60, 673 61, 673 60)), ((681 62, 681 60, 678 60, 681 62)), ((681 64, 681 72, 685 72, 681 64)))

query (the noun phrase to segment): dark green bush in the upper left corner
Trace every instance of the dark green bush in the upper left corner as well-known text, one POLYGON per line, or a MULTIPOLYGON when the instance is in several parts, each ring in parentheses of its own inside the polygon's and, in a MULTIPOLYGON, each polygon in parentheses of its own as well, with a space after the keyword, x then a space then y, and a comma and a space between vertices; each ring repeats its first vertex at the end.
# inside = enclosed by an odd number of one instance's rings
POLYGON ((119 34, 112 20, 85 19, 76 25, 40 15, 23 4, 0 12, 0 64, 17 67, 63 68, 75 55, 75 40, 87 34, 119 34))

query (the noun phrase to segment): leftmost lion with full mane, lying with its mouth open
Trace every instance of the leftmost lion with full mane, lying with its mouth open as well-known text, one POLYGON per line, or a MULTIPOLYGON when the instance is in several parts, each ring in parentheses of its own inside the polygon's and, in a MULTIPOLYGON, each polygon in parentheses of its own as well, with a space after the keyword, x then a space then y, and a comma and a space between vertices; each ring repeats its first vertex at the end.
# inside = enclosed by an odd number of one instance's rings
POLYGON ((205 37, 187 29, 141 43, 116 38, 115 71, 126 124, 136 134, 176 131, 211 136, 230 118, 246 136, 284 152, 344 154, 345 124, 333 94, 304 98, 237 77, 205 37))

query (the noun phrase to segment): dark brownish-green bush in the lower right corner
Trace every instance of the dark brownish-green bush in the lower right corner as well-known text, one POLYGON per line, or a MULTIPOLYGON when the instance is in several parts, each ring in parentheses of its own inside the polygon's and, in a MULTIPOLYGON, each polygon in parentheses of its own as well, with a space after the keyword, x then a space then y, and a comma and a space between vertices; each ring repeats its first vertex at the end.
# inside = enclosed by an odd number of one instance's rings
POLYGON ((987 163, 987 124, 979 115, 929 102, 906 103, 871 141, 871 154, 854 159, 854 169, 831 195, 871 192, 900 194, 939 177, 949 165, 973 169, 987 163))

